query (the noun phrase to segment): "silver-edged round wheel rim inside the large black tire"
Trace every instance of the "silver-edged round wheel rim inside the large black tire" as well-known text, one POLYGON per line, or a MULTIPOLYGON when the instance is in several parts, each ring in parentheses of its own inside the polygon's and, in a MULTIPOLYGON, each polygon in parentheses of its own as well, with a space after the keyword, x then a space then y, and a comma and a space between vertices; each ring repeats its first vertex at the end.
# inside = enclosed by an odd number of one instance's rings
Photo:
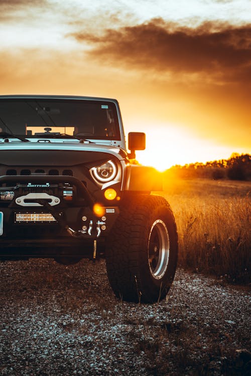
POLYGON ((148 262, 152 276, 159 280, 167 270, 170 243, 165 223, 158 219, 151 228, 148 239, 148 262))

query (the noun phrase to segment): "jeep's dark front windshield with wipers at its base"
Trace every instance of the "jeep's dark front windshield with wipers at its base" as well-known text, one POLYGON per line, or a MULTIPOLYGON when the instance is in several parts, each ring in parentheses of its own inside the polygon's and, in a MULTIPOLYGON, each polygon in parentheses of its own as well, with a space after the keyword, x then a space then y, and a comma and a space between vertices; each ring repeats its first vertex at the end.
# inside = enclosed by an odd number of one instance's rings
POLYGON ((113 102, 87 99, 1 98, 0 132, 120 140, 113 102))

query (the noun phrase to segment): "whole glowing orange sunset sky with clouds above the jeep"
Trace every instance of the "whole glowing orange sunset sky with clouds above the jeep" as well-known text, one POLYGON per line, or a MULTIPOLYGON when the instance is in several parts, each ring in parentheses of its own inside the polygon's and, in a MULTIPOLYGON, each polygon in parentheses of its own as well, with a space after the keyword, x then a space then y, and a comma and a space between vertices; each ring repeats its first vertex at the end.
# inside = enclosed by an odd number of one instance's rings
POLYGON ((0 0, 0 94, 116 98, 141 163, 251 153, 250 0, 0 0))

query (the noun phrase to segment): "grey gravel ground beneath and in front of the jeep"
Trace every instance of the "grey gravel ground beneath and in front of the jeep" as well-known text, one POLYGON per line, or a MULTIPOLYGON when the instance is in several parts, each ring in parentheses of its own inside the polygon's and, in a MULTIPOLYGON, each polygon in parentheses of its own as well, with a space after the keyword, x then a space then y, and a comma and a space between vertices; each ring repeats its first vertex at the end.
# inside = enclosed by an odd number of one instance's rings
POLYGON ((105 262, 0 264, 0 375, 248 375, 247 287, 179 269, 166 300, 120 302, 105 262))

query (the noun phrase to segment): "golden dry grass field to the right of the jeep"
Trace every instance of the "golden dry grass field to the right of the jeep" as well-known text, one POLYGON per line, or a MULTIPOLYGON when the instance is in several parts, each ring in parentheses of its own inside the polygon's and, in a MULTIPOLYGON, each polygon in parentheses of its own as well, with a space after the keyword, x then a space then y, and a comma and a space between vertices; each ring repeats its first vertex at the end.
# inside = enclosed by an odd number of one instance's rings
POLYGON ((179 264, 248 283, 251 182, 165 178, 179 233, 179 264))

